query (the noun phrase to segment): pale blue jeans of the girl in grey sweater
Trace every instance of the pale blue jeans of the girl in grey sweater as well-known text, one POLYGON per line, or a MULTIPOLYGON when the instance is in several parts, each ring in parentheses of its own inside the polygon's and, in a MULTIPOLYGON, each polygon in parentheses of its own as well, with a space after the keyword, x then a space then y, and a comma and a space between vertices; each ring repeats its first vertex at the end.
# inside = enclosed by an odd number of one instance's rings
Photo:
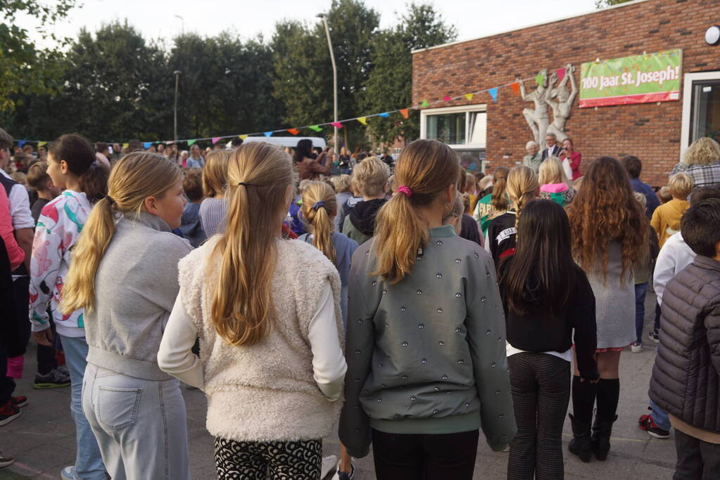
POLYGON ((185 401, 158 382, 88 364, 83 410, 112 480, 190 480, 185 401))

